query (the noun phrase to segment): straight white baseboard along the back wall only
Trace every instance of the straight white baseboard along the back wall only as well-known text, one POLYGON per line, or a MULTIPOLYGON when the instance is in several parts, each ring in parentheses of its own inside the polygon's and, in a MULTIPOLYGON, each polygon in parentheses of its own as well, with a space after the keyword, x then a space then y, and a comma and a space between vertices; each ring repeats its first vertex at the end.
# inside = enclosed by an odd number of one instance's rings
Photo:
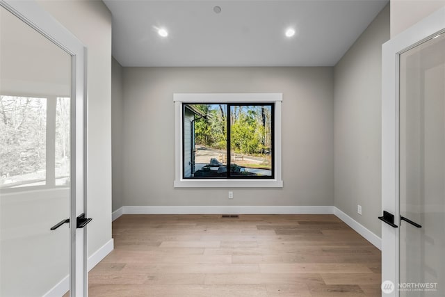
POLYGON ((332 207, 325 206, 149 206, 122 209, 122 214, 334 214, 332 207))

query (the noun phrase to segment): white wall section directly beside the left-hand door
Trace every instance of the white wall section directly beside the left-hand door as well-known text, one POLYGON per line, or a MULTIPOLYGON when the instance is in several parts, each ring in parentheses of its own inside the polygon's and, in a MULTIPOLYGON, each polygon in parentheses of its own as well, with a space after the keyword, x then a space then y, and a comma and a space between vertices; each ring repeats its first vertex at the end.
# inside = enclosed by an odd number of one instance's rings
POLYGON ((88 47, 88 255, 111 240, 111 13, 102 1, 38 3, 88 47))

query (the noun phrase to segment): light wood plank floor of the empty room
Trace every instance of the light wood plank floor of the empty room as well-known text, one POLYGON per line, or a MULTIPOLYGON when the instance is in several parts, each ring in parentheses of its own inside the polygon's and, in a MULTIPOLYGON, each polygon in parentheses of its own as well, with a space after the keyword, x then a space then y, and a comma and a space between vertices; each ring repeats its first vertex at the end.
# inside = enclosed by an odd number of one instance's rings
POLYGON ((90 296, 381 296, 380 250, 333 215, 124 215, 90 296))

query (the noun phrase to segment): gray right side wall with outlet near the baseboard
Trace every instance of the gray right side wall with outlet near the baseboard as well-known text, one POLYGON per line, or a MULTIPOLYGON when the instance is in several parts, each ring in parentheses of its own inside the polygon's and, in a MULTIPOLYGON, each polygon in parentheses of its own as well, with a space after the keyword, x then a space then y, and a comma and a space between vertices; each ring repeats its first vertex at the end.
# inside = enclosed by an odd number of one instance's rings
POLYGON ((378 236, 382 44, 387 40, 389 5, 334 68, 334 205, 378 236))

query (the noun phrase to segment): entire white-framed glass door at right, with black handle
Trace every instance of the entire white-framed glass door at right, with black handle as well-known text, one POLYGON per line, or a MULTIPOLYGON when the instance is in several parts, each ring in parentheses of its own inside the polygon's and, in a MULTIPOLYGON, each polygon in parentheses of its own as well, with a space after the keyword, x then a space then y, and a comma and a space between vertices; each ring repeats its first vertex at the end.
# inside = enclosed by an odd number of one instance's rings
POLYGON ((445 8, 383 55, 382 296, 445 296, 445 8))

